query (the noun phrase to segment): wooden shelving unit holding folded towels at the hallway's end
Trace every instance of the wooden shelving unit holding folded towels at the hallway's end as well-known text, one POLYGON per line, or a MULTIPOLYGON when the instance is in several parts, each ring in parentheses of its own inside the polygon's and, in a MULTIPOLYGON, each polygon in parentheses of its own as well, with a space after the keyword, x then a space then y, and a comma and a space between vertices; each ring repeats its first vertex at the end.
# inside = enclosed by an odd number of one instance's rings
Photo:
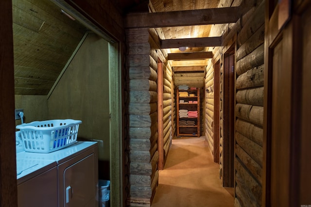
POLYGON ((177 88, 176 93, 176 105, 177 105, 177 137, 180 136, 197 136, 200 137, 200 88, 189 89, 189 90, 179 90, 177 88), (194 94, 194 96, 179 96, 179 92, 188 92, 189 94, 194 94), (185 103, 180 103, 183 100, 185 103), (197 101, 197 103, 189 103, 189 101, 197 101), (179 117, 179 110, 188 111, 198 111, 198 116, 196 118, 189 117, 179 117), (179 121, 185 120, 194 121, 195 126, 180 126, 179 121))

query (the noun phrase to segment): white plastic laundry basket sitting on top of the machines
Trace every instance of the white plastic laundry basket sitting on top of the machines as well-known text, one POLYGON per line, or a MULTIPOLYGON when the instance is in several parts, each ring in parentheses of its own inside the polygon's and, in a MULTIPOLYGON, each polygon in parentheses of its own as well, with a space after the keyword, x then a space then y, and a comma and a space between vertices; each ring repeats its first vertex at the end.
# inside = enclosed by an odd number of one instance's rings
POLYGON ((49 153, 77 141, 79 124, 73 119, 35 121, 17 125, 26 152, 49 153))

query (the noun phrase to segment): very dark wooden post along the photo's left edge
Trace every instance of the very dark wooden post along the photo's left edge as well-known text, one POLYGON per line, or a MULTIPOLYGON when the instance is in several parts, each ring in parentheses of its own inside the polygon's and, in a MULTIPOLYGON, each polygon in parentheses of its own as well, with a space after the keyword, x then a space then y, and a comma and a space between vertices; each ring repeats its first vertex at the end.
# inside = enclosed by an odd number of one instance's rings
POLYGON ((0 206, 17 207, 12 1, 0 8, 0 206))

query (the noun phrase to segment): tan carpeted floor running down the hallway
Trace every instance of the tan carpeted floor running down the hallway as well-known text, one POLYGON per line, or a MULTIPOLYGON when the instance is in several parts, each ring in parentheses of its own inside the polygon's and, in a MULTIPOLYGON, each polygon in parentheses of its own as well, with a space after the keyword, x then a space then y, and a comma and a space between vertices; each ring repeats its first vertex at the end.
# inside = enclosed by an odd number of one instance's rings
POLYGON ((173 139, 151 207, 233 207, 204 137, 173 139))

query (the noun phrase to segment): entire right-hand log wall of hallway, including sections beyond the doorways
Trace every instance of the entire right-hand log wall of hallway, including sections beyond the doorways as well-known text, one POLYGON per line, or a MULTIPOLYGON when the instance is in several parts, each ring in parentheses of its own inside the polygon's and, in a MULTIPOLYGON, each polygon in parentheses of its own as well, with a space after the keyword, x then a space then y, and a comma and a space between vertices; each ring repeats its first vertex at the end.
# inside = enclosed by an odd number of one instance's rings
MULTIPOLYGON (((239 4, 239 0, 221 0, 219 7, 239 4)), ((236 207, 261 206, 262 177, 262 142, 263 142, 263 52, 264 52, 264 0, 257 0, 256 5, 236 24, 214 25, 210 36, 224 34, 223 47, 213 48, 212 63, 220 60, 233 43, 236 46, 236 104, 235 104, 235 150, 234 150, 234 186, 236 207)), ((206 69, 205 86, 213 84, 213 64, 206 69)), ((222 68, 220 74, 222 76, 222 68)), ((222 80, 222 78, 221 78, 222 80)), ((222 108, 222 85, 221 100, 222 108)), ((206 93, 205 131, 208 146, 213 152, 213 92, 206 93)), ((220 111, 222 119, 223 113, 220 111)), ((220 175, 222 166, 223 128, 220 121, 220 175)), ((221 177, 221 176, 220 176, 221 177)))

